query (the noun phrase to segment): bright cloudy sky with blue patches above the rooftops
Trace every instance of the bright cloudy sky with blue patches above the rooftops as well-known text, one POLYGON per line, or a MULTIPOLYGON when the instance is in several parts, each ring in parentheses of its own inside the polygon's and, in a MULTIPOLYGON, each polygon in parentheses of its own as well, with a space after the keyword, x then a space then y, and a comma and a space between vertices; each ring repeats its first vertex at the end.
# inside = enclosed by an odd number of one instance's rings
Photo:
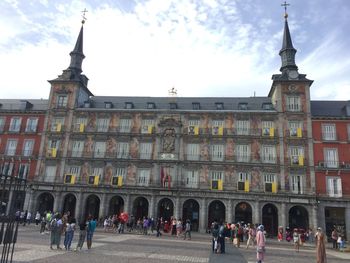
MULTIPOLYGON (((84 24, 96 96, 267 96, 280 73, 282 0, 1 0, 0 98, 48 99, 84 24)), ((313 100, 350 100, 350 1, 289 0, 313 100)))

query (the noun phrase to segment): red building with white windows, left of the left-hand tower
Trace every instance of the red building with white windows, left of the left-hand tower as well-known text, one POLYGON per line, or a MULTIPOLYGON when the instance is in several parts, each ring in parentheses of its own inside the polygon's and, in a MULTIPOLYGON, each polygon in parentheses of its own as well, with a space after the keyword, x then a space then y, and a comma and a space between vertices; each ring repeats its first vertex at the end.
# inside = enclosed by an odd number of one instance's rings
MULTIPOLYGON (((33 180, 47 100, 0 100, 0 173, 33 180)), ((5 190, 2 212, 22 209, 24 193, 5 190), (11 205, 7 205, 10 202, 11 205), (5 205, 6 203, 6 205, 5 205)), ((24 208, 25 209, 25 208, 24 208)))

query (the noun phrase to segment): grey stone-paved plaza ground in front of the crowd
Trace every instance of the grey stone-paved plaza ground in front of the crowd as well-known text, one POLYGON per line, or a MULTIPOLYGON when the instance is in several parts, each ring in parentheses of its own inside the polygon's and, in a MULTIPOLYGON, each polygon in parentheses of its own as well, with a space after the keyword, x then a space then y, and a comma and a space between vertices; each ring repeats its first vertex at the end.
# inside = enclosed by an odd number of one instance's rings
MULTIPOLYGON (((229 242, 226 243, 225 255, 213 255, 210 246, 211 238, 207 234, 193 233, 192 240, 182 240, 181 238, 177 239, 169 235, 163 235, 157 238, 154 235, 120 235, 104 233, 98 230, 93 238, 92 249, 87 250, 84 244, 83 250, 78 252, 56 249, 50 250, 49 238, 49 234, 40 235, 38 227, 32 225, 29 227, 21 227, 13 262, 256 262, 254 248, 245 249, 245 247, 241 247, 237 249, 233 248, 229 242)), ((76 246, 77 238, 78 235, 75 234, 72 248, 76 246)), ((297 253, 294 251, 292 244, 286 242, 281 244, 273 240, 268 240, 267 242, 265 262, 316 262, 314 247, 305 246, 297 253), (293 259, 292 261, 291 258, 293 259)), ((328 263, 350 262, 350 253, 340 253, 328 249, 327 256, 328 263)))

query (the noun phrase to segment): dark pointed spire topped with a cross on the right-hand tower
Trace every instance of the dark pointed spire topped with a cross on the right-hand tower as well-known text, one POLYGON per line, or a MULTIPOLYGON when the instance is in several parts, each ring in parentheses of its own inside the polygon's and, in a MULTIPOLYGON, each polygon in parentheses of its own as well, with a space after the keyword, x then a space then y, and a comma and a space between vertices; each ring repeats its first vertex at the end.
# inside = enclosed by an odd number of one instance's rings
POLYGON ((295 64, 295 53, 297 50, 293 47, 292 38, 290 36, 289 32, 289 26, 288 26, 288 14, 287 14, 287 6, 290 4, 287 4, 286 1, 281 5, 284 7, 284 32, 283 32, 283 42, 282 42, 282 48, 279 52, 279 55, 281 56, 282 65, 280 68, 280 71, 282 73, 289 71, 289 70, 298 70, 298 66, 295 64))

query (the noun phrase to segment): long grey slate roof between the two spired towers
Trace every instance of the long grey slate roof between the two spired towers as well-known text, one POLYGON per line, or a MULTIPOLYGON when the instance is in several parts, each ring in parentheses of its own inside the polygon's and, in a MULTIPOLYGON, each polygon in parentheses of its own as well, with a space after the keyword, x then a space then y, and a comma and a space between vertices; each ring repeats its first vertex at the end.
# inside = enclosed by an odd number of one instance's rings
MULTIPOLYGON (((146 110, 148 103, 154 103, 156 110, 169 110, 171 103, 176 103, 177 110, 194 110, 193 103, 199 103, 202 111, 218 110, 217 103, 223 104, 223 111, 240 110, 239 105, 247 105, 246 111, 261 111, 263 104, 271 104, 269 97, 109 97, 94 96, 90 98, 91 108, 105 108, 110 102, 113 109, 125 109, 126 103, 132 103, 133 109, 146 110)), ((266 110, 266 109, 265 109, 266 110)), ((274 110, 271 108, 270 110, 274 110)))

